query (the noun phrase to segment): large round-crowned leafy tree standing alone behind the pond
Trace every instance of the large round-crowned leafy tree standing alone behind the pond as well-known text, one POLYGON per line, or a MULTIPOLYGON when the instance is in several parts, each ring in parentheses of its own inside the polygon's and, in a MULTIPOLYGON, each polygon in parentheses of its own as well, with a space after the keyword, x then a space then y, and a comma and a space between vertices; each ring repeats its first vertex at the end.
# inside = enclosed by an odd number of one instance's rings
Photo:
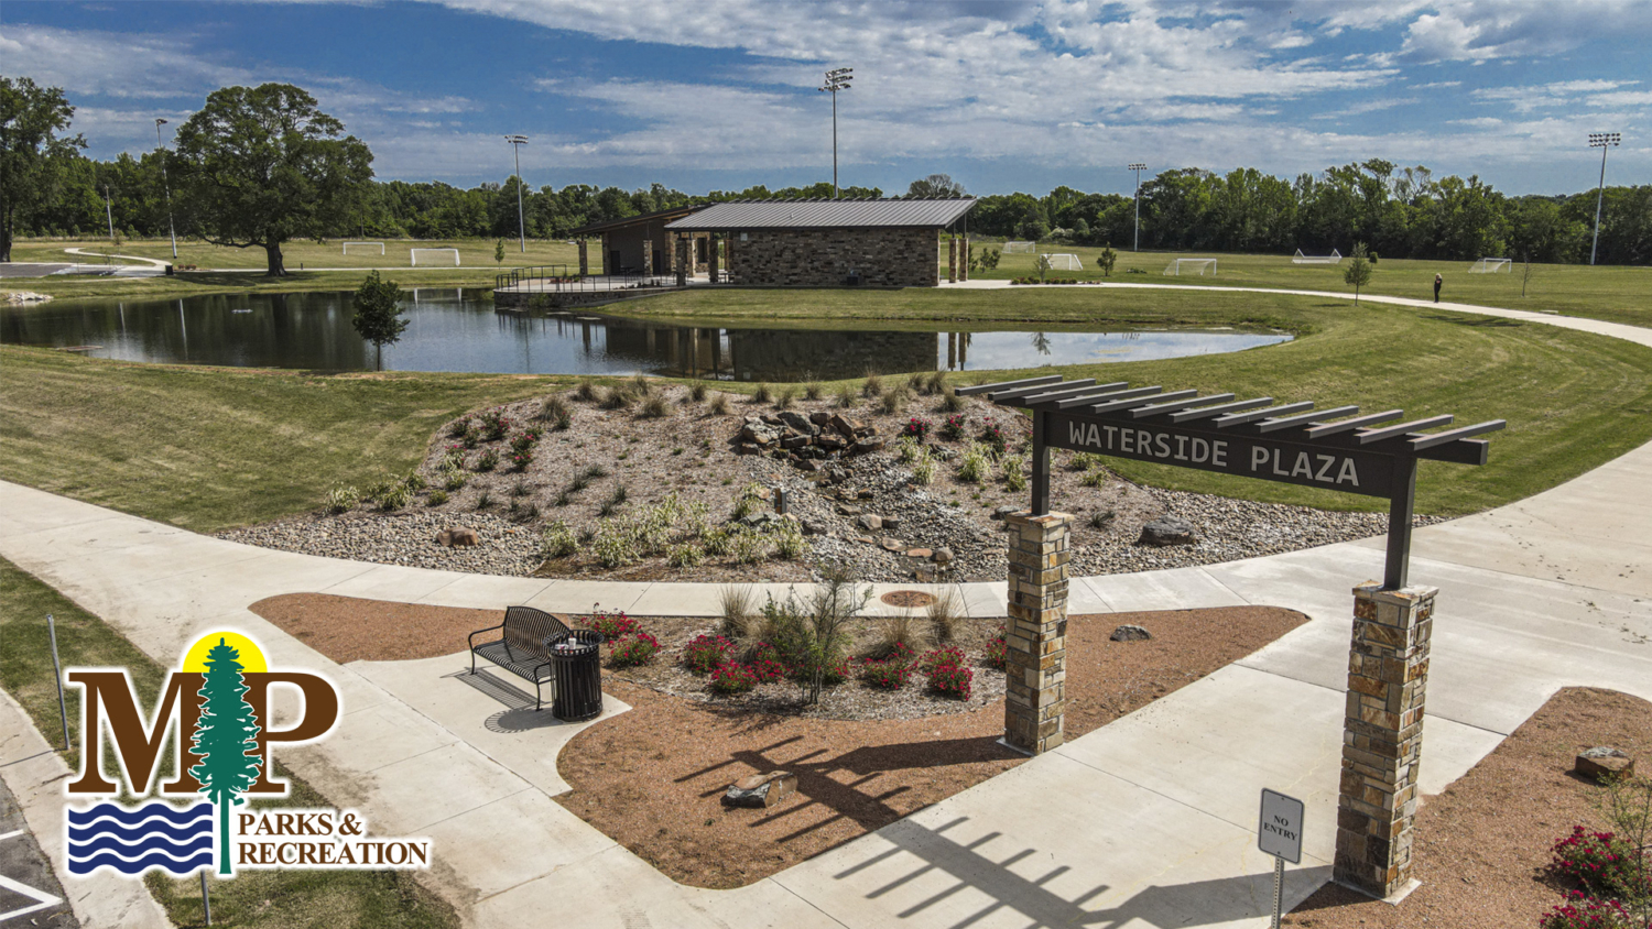
POLYGON ((284 276, 281 244, 355 224, 373 153, 292 84, 221 87, 178 129, 178 206, 208 243, 263 248, 284 276))

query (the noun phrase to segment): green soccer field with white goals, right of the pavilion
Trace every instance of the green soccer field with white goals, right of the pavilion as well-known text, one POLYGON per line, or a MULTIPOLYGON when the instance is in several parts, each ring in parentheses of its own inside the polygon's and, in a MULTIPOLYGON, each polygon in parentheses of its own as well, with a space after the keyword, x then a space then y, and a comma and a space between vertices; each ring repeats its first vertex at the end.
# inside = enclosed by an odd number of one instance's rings
MULTIPOLYGON (((996 243, 976 243, 975 254, 983 248, 1001 248, 996 243)), ((1095 266, 1099 248, 1041 244, 1041 252, 1077 254, 1084 271, 1051 271, 1051 277, 1075 277, 1102 281, 1095 266)), ((945 277, 945 243, 942 244, 942 276, 945 277)), ((981 279, 1008 279, 1037 276, 1032 254, 1006 254, 995 271, 980 272, 981 279)), ((1434 299, 1434 276, 1446 277, 1442 300, 1507 307, 1515 310, 1555 310, 1559 314, 1589 317, 1629 325, 1652 325, 1652 269, 1629 266, 1589 267, 1586 264, 1533 264, 1531 277, 1523 281, 1523 266, 1515 262, 1508 272, 1469 274, 1472 261, 1406 261, 1381 259, 1371 274, 1366 294, 1393 297, 1434 299), (1526 292, 1521 295, 1521 284, 1526 292)), ((1118 251, 1118 262, 1107 281, 1122 284, 1186 284, 1232 287, 1282 287, 1300 290, 1332 290, 1353 294, 1343 284, 1343 266, 1292 264, 1290 256, 1275 254, 1222 254, 1222 252, 1132 252, 1118 251), (1178 257, 1214 257, 1216 276, 1166 276, 1165 269, 1178 257), (1145 274, 1130 274, 1128 269, 1145 274)))

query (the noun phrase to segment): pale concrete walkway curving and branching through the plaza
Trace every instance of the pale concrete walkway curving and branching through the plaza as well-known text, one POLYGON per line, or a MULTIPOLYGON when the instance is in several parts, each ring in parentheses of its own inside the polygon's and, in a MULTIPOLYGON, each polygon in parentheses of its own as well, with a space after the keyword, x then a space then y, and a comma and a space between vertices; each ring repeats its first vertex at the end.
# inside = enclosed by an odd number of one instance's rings
MULTIPOLYGON (((1652 347, 1652 330, 1531 318, 1652 347)), ((1412 579, 1441 587, 1426 794, 1460 777, 1559 686, 1652 700, 1649 485, 1652 446, 1518 503, 1417 531, 1412 579)), ((431 837, 431 879, 471 926, 555 914, 558 926, 801 929, 1265 924, 1272 875, 1256 851, 1257 790, 1308 802, 1307 856, 1287 879, 1287 903, 1300 901, 1330 875, 1350 587, 1379 576, 1383 553, 1379 540, 1368 540, 1075 579, 1074 612, 1267 604, 1298 609, 1310 622, 1051 754, 737 891, 676 884, 557 805, 555 747, 573 728, 497 724, 497 695, 456 675, 463 658, 340 667, 246 611, 266 596, 320 591, 471 607, 585 611, 601 601, 638 614, 710 615, 714 586, 484 578, 314 558, 12 483, 0 483, 0 556, 162 662, 197 634, 231 625, 258 637, 273 663, 330 673, 344 691, 339 731, 284 759, 335 802, 360 809, 375 832, 431 837), (502 846, 499 835, 512 840, 502 846)), ((971 614, 1001 614, 1003 584, 965 591, 971 614)), ((876 792, 876 780, 867 789, 876 792)), ((61 828, 43 805, 25 813, 36 835, 61 828)))

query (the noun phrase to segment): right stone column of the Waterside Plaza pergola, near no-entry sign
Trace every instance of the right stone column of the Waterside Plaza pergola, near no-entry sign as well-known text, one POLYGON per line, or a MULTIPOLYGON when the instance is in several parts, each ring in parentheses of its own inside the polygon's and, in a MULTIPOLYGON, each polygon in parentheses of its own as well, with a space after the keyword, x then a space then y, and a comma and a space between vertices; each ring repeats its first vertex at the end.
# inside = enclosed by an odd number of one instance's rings
POLYGON ((1437 587, 1353 589, 1348 711, 1332 876, 1376 898, 1411 884, 1422 703, 1437 587))

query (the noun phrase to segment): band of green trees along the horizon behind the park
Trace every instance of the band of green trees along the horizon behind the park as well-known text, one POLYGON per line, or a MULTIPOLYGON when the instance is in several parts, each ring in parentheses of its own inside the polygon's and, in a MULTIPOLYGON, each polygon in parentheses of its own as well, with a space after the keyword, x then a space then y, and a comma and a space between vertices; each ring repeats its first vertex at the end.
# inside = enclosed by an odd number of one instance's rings
MULTIPOLYGON (((591 223, 735 198, 831 196, 829 183, 692 195, 648 188, 519 178, 459 188, 443 182, 380 182, 367 144, 289 84, 223 87, 178 129, 170 150, 112 160, 81 153, 68 135, 74 107, 56 87, 0 78, 0 259, 21 236, 165 236, 167 190, 180 236, 264 248, 281 271, 279 243, 294 238, 514 238, 517 193, 530 238, 567 238, 591 223), (273 249, 273 251, 271 251, 273 249)), ((884 191, 844 188, 843 196, 884 191)), ((907 196, 961 196, 947 175, 912 182, 907 196)), ((1303 173, 1294 182, 1256 168, 1166 170, 1140 190, 1142 248, 1323 254, 1355 243, 1384 257, 1589 259, 1596 191, 1508 196, 1479 177, 1436 178, 1426 167, 1371 158, 1303 173)), ((1057 186, 1044 196, 988 195, 968 216, 975 236, 1130 248, 1130 195, 1057 186)), ((1652 261, 1652 185, 1604 193, 1599 262, 1652 261)))

